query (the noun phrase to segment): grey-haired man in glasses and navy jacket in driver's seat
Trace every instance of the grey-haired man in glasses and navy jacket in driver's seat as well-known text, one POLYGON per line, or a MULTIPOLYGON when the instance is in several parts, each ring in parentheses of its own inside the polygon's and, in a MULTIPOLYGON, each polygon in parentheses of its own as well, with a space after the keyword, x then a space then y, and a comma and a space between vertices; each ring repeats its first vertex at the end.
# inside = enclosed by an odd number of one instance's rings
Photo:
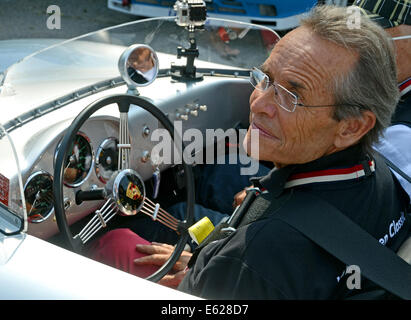
MULTIPOLYGON (((234 233, 205 246, 188 271, 190 254, 184 253, 162 283, 182 280, 180 290, 213 299, 340 297, 341 288, 349 293, 340 281, 346 266, 276 218, 293 194, 321 198, 376 241, 392 221, 405 219, 409 199, 371 148, 398 100, 393 48, 377 25, 364 19, 352 29, 347 17, 344 8, 314 9, 253 69, 249 133, 258 131, 259 159, 275 165, 254 184, 267 193, 251 204, 234 233), (254 205, 259 199, 263 206, 254 205)), ((250 150, 250 134, 244 145, 250 150)), ((314 203, 297 205, 309 219, 314 203)), ((397 250, 409 230, 405 219, 384 244, 397 250)), ((121 244, 138 241, 123 234, 112 259, 130 256, 121 244)), ((164 244, 138 249, 148 254, 135 261, 140 266, 164 262, 171 250, 164 244)))

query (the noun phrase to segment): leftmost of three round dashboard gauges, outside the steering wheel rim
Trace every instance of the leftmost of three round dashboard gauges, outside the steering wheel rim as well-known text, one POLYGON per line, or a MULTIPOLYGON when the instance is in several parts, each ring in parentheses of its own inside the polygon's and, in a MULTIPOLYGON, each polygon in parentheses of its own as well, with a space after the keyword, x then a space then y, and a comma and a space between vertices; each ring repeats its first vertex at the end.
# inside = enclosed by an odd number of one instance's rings
POLYGON ((39 223, 53 212, 53 178, 44 171, 32 174, 24 186, 27 218, 29 222, 39 223))

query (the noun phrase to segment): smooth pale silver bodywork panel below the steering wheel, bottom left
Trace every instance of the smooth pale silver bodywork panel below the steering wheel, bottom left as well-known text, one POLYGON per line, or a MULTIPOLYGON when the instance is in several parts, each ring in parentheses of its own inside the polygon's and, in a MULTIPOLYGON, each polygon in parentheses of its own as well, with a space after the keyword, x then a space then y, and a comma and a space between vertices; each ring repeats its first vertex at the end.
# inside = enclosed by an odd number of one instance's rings
POLYGON ((0 283, 1 300, 198 299, 25 234, 0 235, 0 283))

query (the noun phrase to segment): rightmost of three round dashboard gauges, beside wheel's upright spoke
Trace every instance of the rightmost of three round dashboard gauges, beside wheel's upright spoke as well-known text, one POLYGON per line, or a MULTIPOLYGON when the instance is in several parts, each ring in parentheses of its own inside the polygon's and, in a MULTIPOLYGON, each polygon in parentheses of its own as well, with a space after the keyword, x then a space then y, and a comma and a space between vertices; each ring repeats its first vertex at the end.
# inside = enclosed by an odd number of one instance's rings
POLYGON ((104 140, 97 150, 96 175, 101 182, 106 183, 117 170, 118 140, 111 137, 104 140))

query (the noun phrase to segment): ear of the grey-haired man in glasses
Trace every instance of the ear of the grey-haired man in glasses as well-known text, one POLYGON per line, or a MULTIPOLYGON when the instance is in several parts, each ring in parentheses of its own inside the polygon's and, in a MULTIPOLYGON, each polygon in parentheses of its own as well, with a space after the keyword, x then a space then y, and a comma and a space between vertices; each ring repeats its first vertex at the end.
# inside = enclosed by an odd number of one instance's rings
POLYGON ((375 114, 369 110, 361 113, 359 118, 348 118, 339 122, 339 129, 335 138, 337 148, 347 148, 356 144, 375 126, 375 114))

